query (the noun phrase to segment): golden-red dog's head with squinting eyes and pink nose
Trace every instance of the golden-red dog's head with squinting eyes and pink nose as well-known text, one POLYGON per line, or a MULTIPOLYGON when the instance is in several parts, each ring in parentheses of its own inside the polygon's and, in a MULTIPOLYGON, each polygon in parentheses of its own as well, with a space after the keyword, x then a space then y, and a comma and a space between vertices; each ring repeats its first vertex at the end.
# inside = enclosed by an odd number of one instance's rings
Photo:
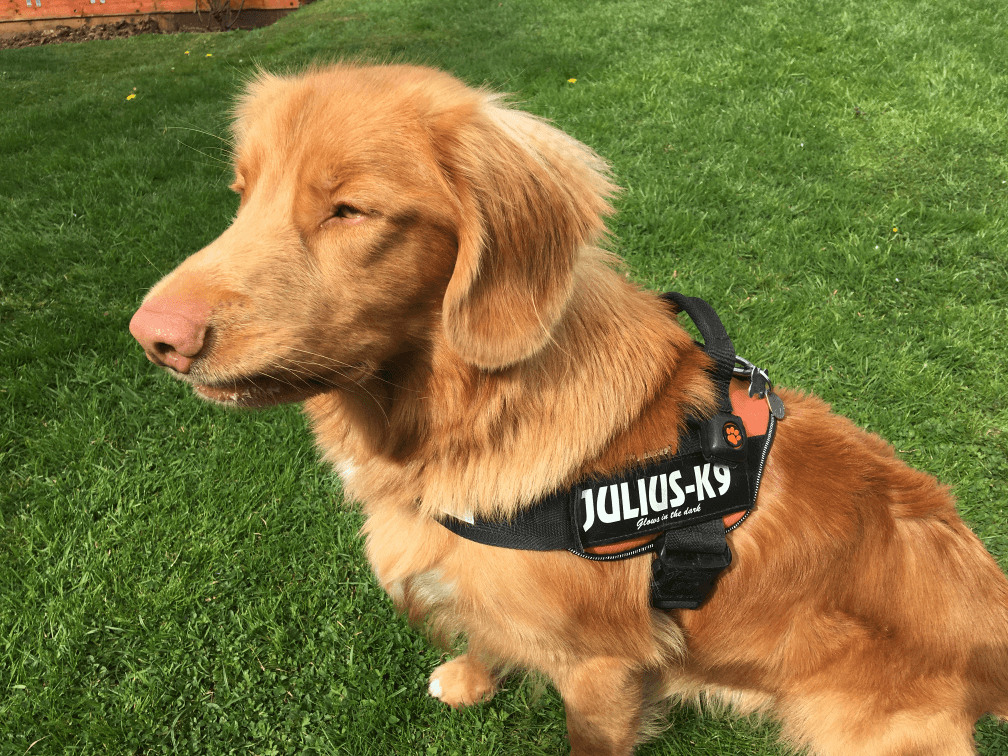
POLYGON ((581 143, 429 69, 261 75, 234 141, 233 224, 130 331, 204 397, 243 406, 436 343, 486 370, 536 355, 613 191, 581 143))

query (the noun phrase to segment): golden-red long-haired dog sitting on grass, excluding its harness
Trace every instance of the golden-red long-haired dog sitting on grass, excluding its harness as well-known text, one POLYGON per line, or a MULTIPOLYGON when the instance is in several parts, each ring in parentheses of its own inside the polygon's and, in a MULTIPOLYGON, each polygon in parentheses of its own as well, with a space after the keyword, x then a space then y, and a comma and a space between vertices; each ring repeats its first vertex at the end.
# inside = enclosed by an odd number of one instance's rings
POLYGON ((751 516, 697 610, 650 554, 460 537, 674 451, 711 359, 603 250, 617 188, 584 144, 426 68, 260 74, 234 119, 233 224, 147 294, 147 357, 208 400, 303 402, 410 620, 466 651, 452 707, 543 673, 571 752, 629 754, 667 700, 781 723, 821 756, 975 753, 1008 718, 1008 580, 949 490, 820 399, 786 405, 751 516))

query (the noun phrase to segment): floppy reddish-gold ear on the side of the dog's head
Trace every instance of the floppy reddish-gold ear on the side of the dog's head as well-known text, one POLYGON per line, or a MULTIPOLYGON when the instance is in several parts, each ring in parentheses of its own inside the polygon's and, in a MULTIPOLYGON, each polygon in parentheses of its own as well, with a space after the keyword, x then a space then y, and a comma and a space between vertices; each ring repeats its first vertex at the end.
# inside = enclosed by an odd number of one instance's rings
POLYGON ((432 139, 459 215, 448 343, 480 368, 513 365, 549 341, 616 187, 584 144, 482 93, 442 114, 432 139))

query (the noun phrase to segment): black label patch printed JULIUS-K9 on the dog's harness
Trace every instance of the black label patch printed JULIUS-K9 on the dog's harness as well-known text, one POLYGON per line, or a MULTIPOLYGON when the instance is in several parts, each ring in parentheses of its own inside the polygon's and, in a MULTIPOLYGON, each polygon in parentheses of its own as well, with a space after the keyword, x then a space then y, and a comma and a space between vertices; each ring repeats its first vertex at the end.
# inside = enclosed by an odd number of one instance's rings
POLYGON ((744 465, 719 465, 698 453, 587 481, 573 506, 582 546, 601 546, 748 509, 749 479, 744 465))

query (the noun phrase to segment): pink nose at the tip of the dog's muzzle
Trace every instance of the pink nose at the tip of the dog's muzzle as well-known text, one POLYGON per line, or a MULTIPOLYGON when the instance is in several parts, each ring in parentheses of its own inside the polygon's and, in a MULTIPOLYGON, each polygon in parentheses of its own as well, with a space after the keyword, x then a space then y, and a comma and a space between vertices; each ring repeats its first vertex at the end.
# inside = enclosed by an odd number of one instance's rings
POLYGON ((129 332, 152 363, 187 373, 203 349, 209 313, 196 299, 154 296, 133 314, 129 332))

